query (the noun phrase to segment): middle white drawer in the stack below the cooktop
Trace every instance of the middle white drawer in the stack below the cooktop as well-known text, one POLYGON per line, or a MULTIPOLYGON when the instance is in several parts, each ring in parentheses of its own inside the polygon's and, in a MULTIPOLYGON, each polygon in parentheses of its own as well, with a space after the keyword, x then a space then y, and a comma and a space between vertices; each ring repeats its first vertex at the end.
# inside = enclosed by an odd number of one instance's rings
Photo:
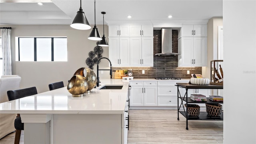
POLYGON ((177 86, 158 86, 157 96, 177 96, 177 86))

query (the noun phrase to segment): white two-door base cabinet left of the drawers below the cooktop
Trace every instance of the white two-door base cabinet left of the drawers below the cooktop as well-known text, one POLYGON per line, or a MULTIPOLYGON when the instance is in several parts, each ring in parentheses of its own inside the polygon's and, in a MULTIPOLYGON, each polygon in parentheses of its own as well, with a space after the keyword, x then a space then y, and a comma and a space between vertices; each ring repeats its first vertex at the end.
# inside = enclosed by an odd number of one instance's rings
POLYGON ((157 81, 133 81, 130 106, 157 106, 157 81))

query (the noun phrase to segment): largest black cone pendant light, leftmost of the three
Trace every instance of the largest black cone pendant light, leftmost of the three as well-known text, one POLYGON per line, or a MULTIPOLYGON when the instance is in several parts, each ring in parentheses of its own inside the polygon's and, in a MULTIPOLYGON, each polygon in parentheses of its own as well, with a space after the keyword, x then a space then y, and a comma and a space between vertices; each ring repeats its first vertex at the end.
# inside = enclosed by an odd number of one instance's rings
POLYGON ((84 15, 83 9, 82 9, 82 0, 80 0, 80 8, 79 11, 76 13, 76 17, 74 18, 72 24, 70 26, 74 29, 78 30, 89 30, 92 28, 84 15))

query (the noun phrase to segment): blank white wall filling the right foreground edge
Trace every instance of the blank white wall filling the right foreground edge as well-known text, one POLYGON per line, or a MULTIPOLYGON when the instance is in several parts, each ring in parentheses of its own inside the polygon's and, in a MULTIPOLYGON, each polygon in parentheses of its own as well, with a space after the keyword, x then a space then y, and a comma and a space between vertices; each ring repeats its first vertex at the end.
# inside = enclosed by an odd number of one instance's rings
POLYGON ((256 144, 256 1, 223 1, 224 144, 256 144))

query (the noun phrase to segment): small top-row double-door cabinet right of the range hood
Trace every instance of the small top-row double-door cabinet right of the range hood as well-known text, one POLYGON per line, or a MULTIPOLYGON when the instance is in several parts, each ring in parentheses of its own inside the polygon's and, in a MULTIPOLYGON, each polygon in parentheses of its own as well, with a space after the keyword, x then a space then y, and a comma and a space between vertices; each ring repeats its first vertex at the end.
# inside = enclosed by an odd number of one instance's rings
POLYGON ((181 36, 207 36, 207 25, 182 25, 181 36))

